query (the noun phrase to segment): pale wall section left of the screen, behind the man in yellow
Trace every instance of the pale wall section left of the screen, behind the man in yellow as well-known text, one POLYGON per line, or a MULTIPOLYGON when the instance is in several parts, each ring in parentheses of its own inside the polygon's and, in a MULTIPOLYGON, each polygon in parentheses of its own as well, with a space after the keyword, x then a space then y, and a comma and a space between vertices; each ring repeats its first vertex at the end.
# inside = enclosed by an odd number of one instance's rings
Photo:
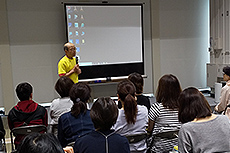
POLYGON ((34 100, 49 102, 57 97, 56 64, 66 41, 61 0, 6 3, 13 86, 28 81, 34 87, 34 100))

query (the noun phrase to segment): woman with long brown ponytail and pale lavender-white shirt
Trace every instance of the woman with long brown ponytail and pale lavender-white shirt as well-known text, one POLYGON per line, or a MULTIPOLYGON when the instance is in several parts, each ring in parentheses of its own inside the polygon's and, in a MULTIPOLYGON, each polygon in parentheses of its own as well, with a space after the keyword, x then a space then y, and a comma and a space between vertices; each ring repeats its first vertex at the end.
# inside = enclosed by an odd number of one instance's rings
POLYGON ((130 152, 145 152, 146 127, 148 123, 148 109, 137 105, 136 88, 129 80, 118 83, 117 96, 122 103, 118 119, 114 125, 117 133, 126 136, 129 140, 130 152))

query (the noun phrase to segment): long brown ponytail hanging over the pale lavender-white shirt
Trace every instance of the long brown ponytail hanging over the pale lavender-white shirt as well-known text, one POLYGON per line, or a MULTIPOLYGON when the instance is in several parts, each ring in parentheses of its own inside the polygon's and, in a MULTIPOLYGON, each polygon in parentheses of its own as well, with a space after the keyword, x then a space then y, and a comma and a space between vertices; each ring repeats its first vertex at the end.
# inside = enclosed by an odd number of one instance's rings
POLYGON ((137 102, 131 94, 124 99, 125 118, 128 124, 135 124, 137 118, 137 102))

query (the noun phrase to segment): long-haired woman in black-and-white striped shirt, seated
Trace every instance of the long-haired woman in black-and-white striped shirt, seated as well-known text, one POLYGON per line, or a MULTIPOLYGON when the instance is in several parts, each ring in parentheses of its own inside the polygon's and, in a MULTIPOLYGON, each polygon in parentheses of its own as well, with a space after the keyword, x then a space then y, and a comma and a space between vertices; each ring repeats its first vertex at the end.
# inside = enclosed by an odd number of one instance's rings
POLYGON ((180 93, 181 86, 176 76, 167 74, 160 78, 156 91, 157 102, 151 106, 148 115, 148 133, 151 135, 149 149, 152 152, 169 152, 178 145, 178 138, 169 131, 178 131, 181 126, 177 101, 180 93))

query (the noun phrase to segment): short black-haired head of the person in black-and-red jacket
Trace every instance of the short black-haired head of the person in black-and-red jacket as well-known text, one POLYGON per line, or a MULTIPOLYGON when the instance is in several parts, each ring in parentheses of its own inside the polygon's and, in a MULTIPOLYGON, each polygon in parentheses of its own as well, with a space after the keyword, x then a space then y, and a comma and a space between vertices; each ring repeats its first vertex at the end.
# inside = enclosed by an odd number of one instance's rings
POLYGON ((20 83, 16 87, 16 94, 20 101, 29 100, 32 92, 33 92, 33 88, 27 82, 20 83))

